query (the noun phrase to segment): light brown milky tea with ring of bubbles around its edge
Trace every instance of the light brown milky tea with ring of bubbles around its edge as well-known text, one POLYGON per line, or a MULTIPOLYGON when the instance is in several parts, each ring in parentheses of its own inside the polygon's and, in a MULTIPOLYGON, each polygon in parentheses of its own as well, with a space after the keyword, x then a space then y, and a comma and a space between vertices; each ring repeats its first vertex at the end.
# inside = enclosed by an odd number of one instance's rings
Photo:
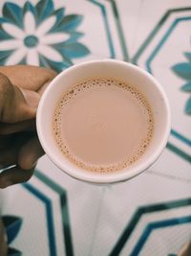
POLYGON ((53 117, 60 151, 87 171, 127 168, 146 151, 153 136, 152 109, 127 82, 95 78, 74 84, 61 96, 53 117))

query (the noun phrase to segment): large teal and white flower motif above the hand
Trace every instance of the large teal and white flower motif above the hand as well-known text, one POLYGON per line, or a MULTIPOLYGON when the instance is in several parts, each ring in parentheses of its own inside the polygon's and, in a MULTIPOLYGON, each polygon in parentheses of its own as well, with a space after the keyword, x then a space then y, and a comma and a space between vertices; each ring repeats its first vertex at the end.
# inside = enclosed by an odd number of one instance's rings
POLYGON ((53 0, 27 1, 23 8, 7 2, 0 17, 0 65, 32 64, 61 71, 73 58, 90 53, 78 40, 83 16, 54 10, 53 0))

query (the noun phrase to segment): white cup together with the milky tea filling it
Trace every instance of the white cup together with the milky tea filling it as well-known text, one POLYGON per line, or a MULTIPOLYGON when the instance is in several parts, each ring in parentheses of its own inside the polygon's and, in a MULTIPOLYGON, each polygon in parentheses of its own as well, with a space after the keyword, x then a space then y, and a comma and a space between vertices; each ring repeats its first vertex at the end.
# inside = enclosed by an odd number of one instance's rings
POLYGON ((167 143, 170 121, 159 81, 133 64, 100 59, 53 79, 38 105, 36 126, 59 169, 105 184, 148 169, 167 143))

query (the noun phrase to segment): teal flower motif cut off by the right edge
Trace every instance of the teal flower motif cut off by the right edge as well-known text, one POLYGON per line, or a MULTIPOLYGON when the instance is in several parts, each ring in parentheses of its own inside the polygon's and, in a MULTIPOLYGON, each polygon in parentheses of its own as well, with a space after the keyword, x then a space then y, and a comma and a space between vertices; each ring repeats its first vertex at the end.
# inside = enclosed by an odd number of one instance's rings
MULTIPOLYGON (((181 86, 181 90, 191 94, 191 53, 184 53, 184 56, 187 58, 188 62, 176 64, 172 69, 177 76, 186 81, 186 83, 181 86)), ((187 100, 184 110, 186 114, 191 115, 191 96, 187 100)))

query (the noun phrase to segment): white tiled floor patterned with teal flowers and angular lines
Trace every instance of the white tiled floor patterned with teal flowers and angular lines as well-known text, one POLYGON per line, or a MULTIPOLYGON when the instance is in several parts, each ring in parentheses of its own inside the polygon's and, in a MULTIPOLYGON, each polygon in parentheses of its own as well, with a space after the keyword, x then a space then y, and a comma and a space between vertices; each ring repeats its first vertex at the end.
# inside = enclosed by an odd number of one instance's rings
POLYGON ((41 0, 30 1, 25 8, 24 0, 10 2, 17 6, 0 3, 1 17, 9 18, 0 20, 0 32, 8 33, 0 34, 2 65, 22 61, 60 71, 87 59, 131 61, 161 82, 173 121, 159 160, 122 184, 98 187, 75 181, 44 156, 28 184, 4 192, 3 214, 23 219, 11 246, 25 256, 177 255, 191 238, 190 88, 180 90, 191 81, 190 58, 185 56, 191 53, 190 1, 41 0), (47 15, 40 14, 40 4, 47 15), (54 12, 60 8, 64 14, 54 12), (58 13, 63 22, 56 27, 58 13), (66 16, 70 14, 74 16, 66 16), (41 47, 30 48, 29 40, 23 44, 30 30, 26 15, 30 22, 38 21, 30 35, 38 36, 41 47), (13 33, 11 23, 20 34, 13 33), (47 26, 53 31, 46 32, 47 26), (10 33, 20 35, 16 50, 5 42, 15 40, 10 33))

